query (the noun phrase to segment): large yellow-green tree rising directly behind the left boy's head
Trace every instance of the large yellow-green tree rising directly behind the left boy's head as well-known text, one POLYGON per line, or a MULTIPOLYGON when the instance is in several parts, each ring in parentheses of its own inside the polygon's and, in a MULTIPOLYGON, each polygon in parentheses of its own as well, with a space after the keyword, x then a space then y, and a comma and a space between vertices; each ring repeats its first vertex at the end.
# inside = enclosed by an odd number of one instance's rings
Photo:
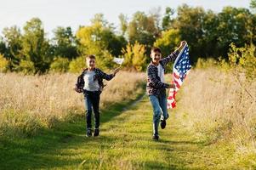
POLYGON ((121 49, 126 44, 125 39, 117 37, 100 14, 95 15, 92 26, 82 26, 77 31, 77 39, 81 54, 94 54, 97 65, 103 69, 113 66, 113 55, 121 54, 121 49))

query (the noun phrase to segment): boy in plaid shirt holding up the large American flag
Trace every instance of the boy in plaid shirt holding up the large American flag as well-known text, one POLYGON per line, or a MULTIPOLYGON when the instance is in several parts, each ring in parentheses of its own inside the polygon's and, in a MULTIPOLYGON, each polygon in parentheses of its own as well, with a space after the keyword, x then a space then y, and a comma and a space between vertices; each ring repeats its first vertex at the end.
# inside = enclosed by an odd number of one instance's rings
POLYGON ((159 139, 158 126, 161 119, 161 127, 165 128, 168 119, 166 88, 175 88, 174 84, 168 84, 164 80, 165 66, 176 59, 180 50, 185 46, 185 41, 180 42, 179 48, 168 57, 162 59, 160 48, 151 48, 151 63, 147 67, 146 92, 149 95, 153 108, 153 138, 159 139))

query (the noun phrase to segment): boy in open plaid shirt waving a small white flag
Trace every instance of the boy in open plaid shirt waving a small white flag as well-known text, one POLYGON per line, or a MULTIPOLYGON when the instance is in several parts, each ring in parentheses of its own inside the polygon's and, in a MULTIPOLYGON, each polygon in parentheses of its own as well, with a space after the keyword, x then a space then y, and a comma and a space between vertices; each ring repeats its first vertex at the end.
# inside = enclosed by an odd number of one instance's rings
POLYGON ((110 81, 116 76, 119 69, 113 74, 105 74, 105 72, 95 67, 95 56, 88 55, 86 58, 87 69, 77 78, 75 90, 84 94, 84 103, 86 109, 87 137, 92 136, 91 116, 94 110, 95 128, 94 137, 100 134, 100 94, 104 88, 103 79, 110 81))

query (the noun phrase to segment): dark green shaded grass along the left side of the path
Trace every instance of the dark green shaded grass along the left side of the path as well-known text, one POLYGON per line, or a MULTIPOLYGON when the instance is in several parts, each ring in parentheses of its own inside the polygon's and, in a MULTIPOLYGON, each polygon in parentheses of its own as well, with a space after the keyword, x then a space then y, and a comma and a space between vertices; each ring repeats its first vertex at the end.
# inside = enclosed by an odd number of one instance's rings
MULTIPOLYGON (((137 99, 144 94, 139 94, 137 99)), ((134 101, 111 105, 101 111, 101 125, 119 116, 124 108, 134 101)), ((78 166, 82 157, 77 157, 76 151, 64 156, 66 149, 79 150, 84 143, 98 147, 101 141, 112 143, 113 138, 100 136, 99 138, 85 137, 85 116, 72 117, 73 120, 56 122, 51 129, 42 128, 37 134, 28 138, 9 138, 0 136, 0 169, 37 169, 78 166)), ((107 144, 106 143, 106 144, 107 144)), ((87 147, 87 146, 86 146, 87 147)), ((108 147, 105 145, 104 147, 108 147)), ((89 150, 89 148, 88 148, 89 150)), ((89 160, 88 160, 89 161, 89 160)), ((91 159, 90 161, 94 161, 91 159)))

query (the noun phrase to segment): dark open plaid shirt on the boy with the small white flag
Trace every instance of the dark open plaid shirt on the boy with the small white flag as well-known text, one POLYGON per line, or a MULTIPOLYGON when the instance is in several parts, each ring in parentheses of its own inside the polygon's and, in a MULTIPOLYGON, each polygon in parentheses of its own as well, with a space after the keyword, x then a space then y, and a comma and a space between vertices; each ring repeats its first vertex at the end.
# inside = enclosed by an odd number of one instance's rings
MULTIPOLYGON (((86 71, 88 71, 88 69, 84 69, 82 71, 82 74, 79 77, 77 77, 77 84, 76 84, 76 87, 75 87, 75 90, 77 91, 77 93, 84 92, 84 90, 83 90, 83 87, 84 87, 83 77, 84 77, 84 74, 86 74, 86 71)), ((98 68, 95 68, 94 71, 95 71, 94 80, 98 79, 98 82, 99 82, 99 85, 100 85, 100 92, 102 92, 103 88, 105 87, 105 85, 103 84, 103 79, 109 81, 115 76, 114 76, 114 74, 110 74, 110 75, 105 74, 105 72, 101 71, 98 68)))

